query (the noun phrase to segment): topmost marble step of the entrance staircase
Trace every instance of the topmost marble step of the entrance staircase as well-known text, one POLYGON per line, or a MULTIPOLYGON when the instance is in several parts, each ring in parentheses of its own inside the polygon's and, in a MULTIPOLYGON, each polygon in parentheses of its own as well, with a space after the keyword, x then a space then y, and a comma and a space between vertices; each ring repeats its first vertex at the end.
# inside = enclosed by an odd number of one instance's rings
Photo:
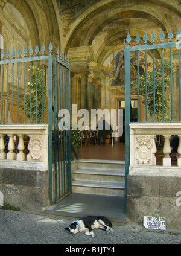
POLYGON ((78 169, 124 170, 125 161, 79 159, 78 169))

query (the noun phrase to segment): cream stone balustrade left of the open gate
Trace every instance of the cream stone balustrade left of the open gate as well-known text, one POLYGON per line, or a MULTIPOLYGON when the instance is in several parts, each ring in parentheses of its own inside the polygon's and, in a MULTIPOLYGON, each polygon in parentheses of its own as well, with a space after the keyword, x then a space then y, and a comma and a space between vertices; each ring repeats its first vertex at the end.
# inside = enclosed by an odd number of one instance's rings
POLYGON ((0 167, 48 168, 48 125, 0 125, 0 167), (5 153, 4 136, 9 137, 5 153), (28 138, 27 141, 24 138, 28 138), (16 147, 15 147, 16 144, 16 147), (27 153, 25 153, 25 147, 27 153))

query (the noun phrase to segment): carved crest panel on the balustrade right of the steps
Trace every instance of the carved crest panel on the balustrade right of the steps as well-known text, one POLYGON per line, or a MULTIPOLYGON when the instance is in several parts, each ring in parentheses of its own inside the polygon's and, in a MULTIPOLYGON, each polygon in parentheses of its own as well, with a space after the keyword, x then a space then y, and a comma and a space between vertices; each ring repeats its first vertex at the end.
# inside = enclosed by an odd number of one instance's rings
POLYGON ((154 156, 155 142, 153 135, 137 135, 136 136, 136 163, 144 165, 156 165, 154 156))

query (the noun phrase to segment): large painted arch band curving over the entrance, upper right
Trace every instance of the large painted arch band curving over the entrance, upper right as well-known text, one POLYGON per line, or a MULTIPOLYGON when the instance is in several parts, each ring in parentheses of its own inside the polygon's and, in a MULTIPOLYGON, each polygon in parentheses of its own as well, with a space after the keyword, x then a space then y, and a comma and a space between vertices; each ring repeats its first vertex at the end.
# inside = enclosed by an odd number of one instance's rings
POLYGON ((91 45, 95 36, 111 22, 118 19, 142 18, 153 22, 163 29, 165 36, 169 33, 170 27, 173 33, 178 29, 178 20, 181 10, 176 3, 169 1, 132 1, 131 3, 121 4, 119 1, 98 2, 90 12, 82 14, 74 31, 69 36, 67 49, 69 47, 81 47, 91 45), (165 12, 165 13, 164 13, 165 12), (174 17, 174 18, 173 18, 174 17))

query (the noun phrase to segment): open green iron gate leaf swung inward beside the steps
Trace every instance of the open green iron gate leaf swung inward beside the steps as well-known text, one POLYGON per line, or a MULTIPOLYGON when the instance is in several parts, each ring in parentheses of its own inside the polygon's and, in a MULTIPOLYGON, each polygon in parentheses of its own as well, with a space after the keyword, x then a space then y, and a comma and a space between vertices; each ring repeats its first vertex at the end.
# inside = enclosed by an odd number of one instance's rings
MULTIPOLYGON (((54 58, 54 89, 52 93, 54 167, 52 168, 50 186, 52 185, 54 194, 50 197, 53 202, 57 202, 71 193, 71 131, 66 127, 60 129, 59 126, 59 111, 61 109, 70 111, 70 70, 68 60, 61 53, 59 56, 59 50, 57 57, 54 58)), ((51 155, 50 150, 49 154, 51 155)))

